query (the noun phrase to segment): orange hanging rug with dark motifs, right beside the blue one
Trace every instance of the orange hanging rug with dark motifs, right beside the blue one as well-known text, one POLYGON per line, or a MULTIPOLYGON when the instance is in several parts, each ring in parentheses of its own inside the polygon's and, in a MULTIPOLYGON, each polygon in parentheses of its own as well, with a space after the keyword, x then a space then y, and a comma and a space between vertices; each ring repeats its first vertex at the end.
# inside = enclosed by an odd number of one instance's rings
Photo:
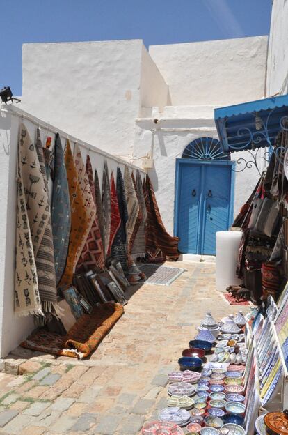
POLYGON ((64 159, 69 186, 71 231, 66 266, 60 282, 61 286, 72 284, 74 265, 79 259, 78 252, 80 247, 82 246, 83 237, 85 236, 89 226, 85 206, 82 199, 80 183, 78 181, 77 170, 74 165, 74 160, 68 139, 66 143, 64 159))

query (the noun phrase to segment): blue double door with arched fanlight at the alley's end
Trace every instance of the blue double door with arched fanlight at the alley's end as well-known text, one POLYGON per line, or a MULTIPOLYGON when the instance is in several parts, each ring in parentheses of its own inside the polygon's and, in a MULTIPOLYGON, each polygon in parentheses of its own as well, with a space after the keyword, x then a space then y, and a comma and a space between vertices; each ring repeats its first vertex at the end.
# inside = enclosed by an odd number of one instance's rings
POLYGON ((233 166, 213 137, 195 139, 176 159, 175 235, 183 254, 215 254, 216 231, 233 219, 233 166))

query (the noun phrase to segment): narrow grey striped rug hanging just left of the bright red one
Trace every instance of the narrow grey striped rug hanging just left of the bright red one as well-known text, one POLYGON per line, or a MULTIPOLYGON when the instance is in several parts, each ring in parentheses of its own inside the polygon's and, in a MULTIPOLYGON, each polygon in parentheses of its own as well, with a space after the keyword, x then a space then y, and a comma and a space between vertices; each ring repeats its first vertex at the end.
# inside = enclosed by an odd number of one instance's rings
POLYGON ((102 213, 104 224, 104 254, 106 259, 111 232, 111 191, 107 160, 104 162, 102 179, 102 213))

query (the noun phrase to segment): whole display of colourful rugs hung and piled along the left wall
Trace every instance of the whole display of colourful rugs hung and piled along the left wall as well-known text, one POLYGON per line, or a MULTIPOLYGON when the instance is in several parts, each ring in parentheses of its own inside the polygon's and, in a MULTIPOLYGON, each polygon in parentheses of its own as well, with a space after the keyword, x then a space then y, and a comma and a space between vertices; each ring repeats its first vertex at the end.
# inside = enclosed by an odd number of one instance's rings
POLYGON ((105 161, 100 188, 77 143, 63 150, 56 134, 50 146, 20 125, 15 314, 45 326, 23 346, 81 358, 122 315, 127 287, 145 280, 135 261, 177 259, 178 239, 163 226, 149 176, 127 165, 109 176, 105 161))

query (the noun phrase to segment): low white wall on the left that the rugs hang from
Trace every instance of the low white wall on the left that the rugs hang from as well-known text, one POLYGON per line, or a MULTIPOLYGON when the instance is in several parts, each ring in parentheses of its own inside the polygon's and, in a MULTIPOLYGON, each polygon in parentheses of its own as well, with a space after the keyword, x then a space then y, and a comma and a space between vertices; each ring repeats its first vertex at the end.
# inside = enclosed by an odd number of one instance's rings
MULTIPOLYGON (((39 119, 20 111, 18 107, 17 112, 23 114, 23 119, 13 113, 15 111, 13 106, 5 106, 4 110, 0 110, 0 357, 6 356, 15 349, 34 327, 33 316, 17 318, 14 314, 17 146, 19 123, 23 122, 26 125, 31 138, 35 138, 38 124, 43 124, 39 119), (7 110, 8 112, 6 112, 7 110), (29 116, 32 121, 26 119, 26 116, 29 116)), ((55 127, 49 125, 47 128, 41 128, 42 144, 45 144, 47 136, 52 137, 52 144, 54 144, 56 131, 55 127)), ((97 169, 100 183, 102 183, 105 158, 109 174, 113 171, 114 176, 116 176, 118 166, 122 170, 122 174, 124 173, 125 162, 118 162, 113 156, 106 156, 95 146, 84 144, 80 139, 75 139, 61 130, 59 130, 59 134, 63 148, 67 137, 69 137, 72 151, 74 142, 77 140, 84 160, 89 153, 93 171, 97 169)), ((131 165, 129 166, 131 167, 131 165)))

